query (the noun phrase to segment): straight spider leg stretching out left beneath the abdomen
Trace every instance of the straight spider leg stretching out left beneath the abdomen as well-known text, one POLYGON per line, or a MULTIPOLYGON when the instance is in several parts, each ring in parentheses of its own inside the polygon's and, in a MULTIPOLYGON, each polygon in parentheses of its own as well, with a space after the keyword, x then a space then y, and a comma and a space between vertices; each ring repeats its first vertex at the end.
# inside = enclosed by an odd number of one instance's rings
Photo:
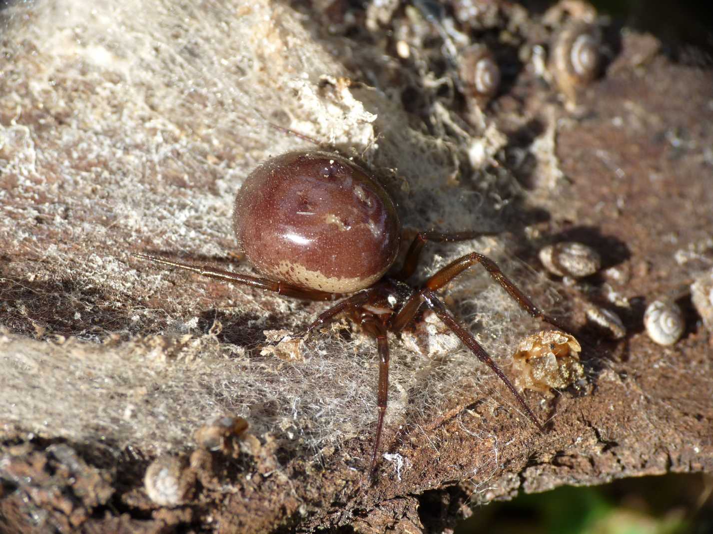
POLYGON ((211 266, 195 266, 190 263, 168 260, 166 258, 161 258, 160 256, 150 256, 149 254, 134 253, 133 255, 144 260, 155 261, 156 263, 163 263, 163 265, 192 271, 193 273, 198 273, 201 276, 217 278, 218 280, 242 284, 243 286, 250 286, 252 288, 274 291, 275 293, 279 293, 279 295, 285 295, 287 297, 300 298, 302 300, 334 300, 339 297, 338 294, 327 293, 327 291, 303 289, 298 286, 294 286, 291 283, 276 282, 274 280, 270 280, 269 278, 258 278, 257 276, 249 276, 247 274, 232 273, 231 271, 223 271, 222 269, 217 269, 211 266))

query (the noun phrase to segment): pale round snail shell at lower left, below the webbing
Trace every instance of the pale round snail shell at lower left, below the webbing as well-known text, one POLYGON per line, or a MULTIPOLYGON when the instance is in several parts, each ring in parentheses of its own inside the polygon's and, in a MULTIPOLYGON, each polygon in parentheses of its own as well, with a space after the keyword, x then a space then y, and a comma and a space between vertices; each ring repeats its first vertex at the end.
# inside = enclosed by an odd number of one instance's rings
POLYGON ((159 506, 180 506, 188 501, 195 485, 195 473, 188 461, 177 456, 160 456, 146 469, 143 478, 147 495, 159 506))

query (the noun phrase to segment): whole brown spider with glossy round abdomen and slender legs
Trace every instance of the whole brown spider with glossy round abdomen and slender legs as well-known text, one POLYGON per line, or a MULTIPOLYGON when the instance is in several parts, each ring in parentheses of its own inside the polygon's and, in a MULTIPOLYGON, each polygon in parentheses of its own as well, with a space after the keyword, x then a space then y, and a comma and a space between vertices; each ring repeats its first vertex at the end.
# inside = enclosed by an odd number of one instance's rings
POLYGON ((540 431, 544 430, 510 379, 473 335, 458 323, 436 292, 467 268, 480 263, 530 315, 560 328, 555 320, 535 307, 495 262, 477 252, 456 259, 419 286, 406 283, 416 271, 427 242, 466 241, 483 232, 421 232, 411 242, 401 268, 387 274, 394 266, 401 241, 401 224, 394 200, 358 164, 321 151, 287 152, 260 164, 237 192, 233 227, 240 251, 261 276, 195 266, 143 253, 135 256, 292 298, 341 299, 309 323, 303 335, 346 313, 376 340, 379 414, 370 473, 376 468, 389 389, 386 333, 399 333, 424 306, 432 310, 478 360, 493 370, 528 418, 540 431))

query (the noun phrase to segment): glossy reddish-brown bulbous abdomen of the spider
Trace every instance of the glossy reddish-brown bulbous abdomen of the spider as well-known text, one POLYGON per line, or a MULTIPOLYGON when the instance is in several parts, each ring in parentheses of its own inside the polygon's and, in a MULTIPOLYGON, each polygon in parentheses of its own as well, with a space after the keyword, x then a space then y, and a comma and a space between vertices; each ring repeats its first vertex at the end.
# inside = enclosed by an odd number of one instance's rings
POLYGON ((237 192, 233 226, 264 276, 331 293, 368 288, 399 251, 386 189, 327 152, 288 152, 257 167, 237 192))

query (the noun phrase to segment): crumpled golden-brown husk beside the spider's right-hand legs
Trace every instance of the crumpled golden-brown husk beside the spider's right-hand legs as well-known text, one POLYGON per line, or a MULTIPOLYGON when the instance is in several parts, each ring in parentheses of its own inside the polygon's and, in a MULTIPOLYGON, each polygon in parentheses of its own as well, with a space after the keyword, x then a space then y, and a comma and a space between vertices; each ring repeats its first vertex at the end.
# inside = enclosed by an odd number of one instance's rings
POLYGON ((513 354, 515 385, 520 389, 548 392, 584 378, 579 361, 582 350, 574 336, 560 330, 543 330, 528 335, 513 354))

